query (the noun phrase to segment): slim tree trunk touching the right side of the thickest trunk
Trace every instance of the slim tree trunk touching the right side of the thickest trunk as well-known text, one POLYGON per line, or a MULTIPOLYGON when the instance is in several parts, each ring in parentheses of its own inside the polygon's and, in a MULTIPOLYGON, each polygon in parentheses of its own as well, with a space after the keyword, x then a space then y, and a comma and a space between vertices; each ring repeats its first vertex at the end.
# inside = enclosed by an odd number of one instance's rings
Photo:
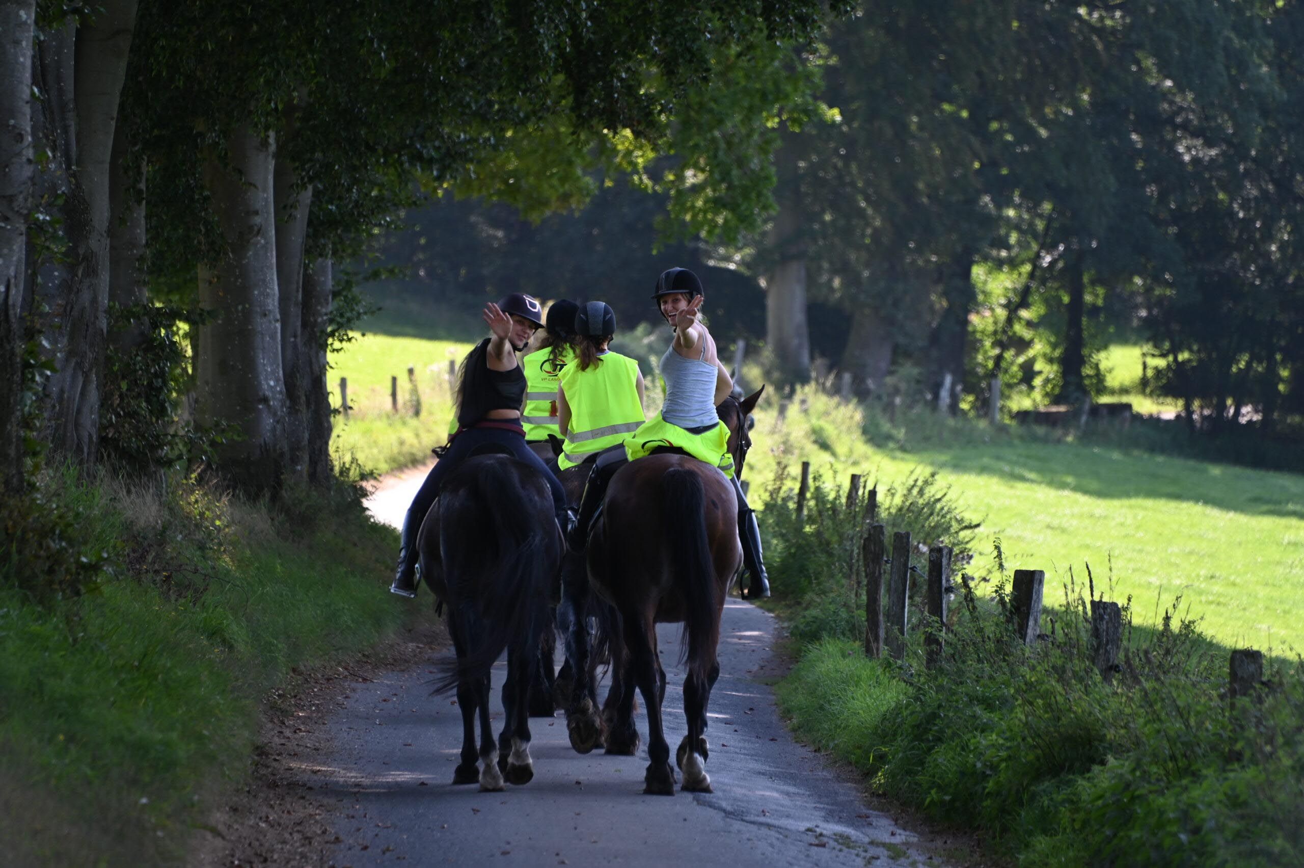
POLYGON ((280 365, 286 377, 287 471, 308 471, 308 349, 303 343, 304 240, 308 235, 310 187, 295 189, 297 172, 278 159, 273 176, 276 209, 276 287, 280 296, 280 365))

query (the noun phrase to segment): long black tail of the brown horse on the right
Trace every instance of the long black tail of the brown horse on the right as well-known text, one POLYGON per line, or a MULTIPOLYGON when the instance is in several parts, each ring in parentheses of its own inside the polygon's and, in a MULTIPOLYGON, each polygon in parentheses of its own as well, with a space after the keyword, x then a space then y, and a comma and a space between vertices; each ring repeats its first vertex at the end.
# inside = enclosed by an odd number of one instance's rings
POLYGON ((661 509, 670 569, 685 602, 679 663, 707 679, 716 664, 720 619, 716 616, 716 581, 707 539, 705 492, 702 478, 691 470, 672 467, 661 479, 661 509))

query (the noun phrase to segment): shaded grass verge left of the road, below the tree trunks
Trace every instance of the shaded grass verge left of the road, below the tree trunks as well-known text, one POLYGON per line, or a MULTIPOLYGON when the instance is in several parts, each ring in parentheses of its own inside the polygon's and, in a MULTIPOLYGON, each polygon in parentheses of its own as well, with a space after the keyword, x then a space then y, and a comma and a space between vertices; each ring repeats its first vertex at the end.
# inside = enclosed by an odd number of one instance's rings
POLYGON ((7 859, 180 861, 248 775, 267 690, 400 624, 383 593, 394 533, 343 486, 275 509, 184 479, 42 487, 110 566, 46 604, 0 566, 7 859))

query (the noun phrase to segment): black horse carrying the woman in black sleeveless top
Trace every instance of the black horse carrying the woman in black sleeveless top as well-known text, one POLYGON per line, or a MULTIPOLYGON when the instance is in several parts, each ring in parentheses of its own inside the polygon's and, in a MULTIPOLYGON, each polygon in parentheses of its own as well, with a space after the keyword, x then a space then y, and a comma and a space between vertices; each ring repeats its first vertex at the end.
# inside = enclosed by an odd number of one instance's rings
POLYGON ((533 778, 528 692, 540 637, 549 625, 549 594, 562 539, 548 484, 505 454, 466 459, 445 480, 417 538, 421 577, 445 602, 456 662, 443 667, 436 692, 458 689, 462 762, 452 783, 502 790, 533 778), (503 730, 489 727, 490 667, 507 651, 503 730), (480 751, 476 751, 476 715, 480 751), (505 760, 499 753, 510 756, 505 760), (481 767, 476 769, 476 758, 481 767))

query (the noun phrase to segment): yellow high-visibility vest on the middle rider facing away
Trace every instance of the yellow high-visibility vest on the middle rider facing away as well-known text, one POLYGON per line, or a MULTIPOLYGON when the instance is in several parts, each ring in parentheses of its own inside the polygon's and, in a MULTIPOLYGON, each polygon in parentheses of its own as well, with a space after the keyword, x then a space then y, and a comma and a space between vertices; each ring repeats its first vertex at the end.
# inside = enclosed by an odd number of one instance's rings
POLYGON ((578 364, 562 371, 562 390, 571 410, 566 444, 557 458, 562 470, 623 442, 643 424, 639 363, 619 352, 606 352, 599 359, 588 371, 580 371, 578 364))

